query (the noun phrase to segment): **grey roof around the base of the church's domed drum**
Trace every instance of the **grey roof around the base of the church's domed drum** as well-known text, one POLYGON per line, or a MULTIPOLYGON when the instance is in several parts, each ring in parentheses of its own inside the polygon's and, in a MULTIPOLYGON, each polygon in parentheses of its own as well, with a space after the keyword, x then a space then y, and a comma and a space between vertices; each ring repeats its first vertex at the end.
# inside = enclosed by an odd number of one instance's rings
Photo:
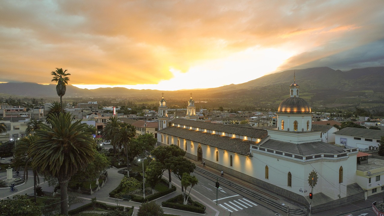
POLYGON ((276 151, 283 151, 302 156, 317 154, 339 154, 345 152, 343 148, 324 142, 294 144, 277 140, 267 140, 261 146, 263 148, 270 148, 276 151))

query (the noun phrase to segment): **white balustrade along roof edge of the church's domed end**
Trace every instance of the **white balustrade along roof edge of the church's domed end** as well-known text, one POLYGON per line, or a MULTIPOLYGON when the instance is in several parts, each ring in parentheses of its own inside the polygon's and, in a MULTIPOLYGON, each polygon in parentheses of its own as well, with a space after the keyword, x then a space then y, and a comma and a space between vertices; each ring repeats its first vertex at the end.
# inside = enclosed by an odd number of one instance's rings
POLYGON ((335 159, 339 159, 339 158, 347 157, 349 153, 353 153, 353 152, 358 151, 357 148, 350 148, 350 149, 346 149, 347 152, 343 152, 343 153, 339 153, 339 154, 317 154, 317 155, 310 155, 310 156, 302 156, 302 155, 295 155, 295 154, 291 154, 291 153, 285 153, 285 152, 276 151, 276 150, 268 149, 268 148, 262 148, 260 146, 253 146, 253 145, 251 146, 251 150, 264 151, 266 153, 282 155, 282 156, 285 156, 287 158, 295 158, 295 159, 305 160, 305 161, 313 160, 313 159, 317 159, 317 158, 335 158, 335 159))

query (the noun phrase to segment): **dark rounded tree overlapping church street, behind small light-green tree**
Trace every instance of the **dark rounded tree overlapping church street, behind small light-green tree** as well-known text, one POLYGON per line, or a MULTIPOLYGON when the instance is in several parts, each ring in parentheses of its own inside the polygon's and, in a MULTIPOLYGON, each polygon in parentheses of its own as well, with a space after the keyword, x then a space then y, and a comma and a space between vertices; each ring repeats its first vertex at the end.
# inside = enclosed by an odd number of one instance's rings
MULTIPOLYGON (((184 173, 193 173, 196 168, 196 164, 192 163, 187 158, 182 156, 167 158, 166 163, 170 163, 170 168, 172 169, 172 173, 175 174, 177 178, 180 179, 184 173)), ((181 185, 181 192, 184 191, 183 185, 181 185)))

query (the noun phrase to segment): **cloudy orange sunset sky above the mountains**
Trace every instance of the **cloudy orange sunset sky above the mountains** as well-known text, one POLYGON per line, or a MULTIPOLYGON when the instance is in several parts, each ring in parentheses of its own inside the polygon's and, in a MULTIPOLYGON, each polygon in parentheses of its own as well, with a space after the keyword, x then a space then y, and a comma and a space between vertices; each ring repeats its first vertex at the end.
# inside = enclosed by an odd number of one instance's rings
POLYGON ((180 90, 384 66, 384 1, 2 0, 0 82, 180 90))

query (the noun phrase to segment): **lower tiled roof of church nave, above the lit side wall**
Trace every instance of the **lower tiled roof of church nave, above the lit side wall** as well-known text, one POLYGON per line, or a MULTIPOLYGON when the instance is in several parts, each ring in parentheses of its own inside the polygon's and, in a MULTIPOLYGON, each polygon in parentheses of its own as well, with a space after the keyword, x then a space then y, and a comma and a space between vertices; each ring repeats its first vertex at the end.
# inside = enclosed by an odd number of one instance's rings
POLYGON ((228 136, 204 133, 202 131, 190 130, 176 126, 169 126, 157 131, 157 133, 164 133, 170 136, 179 137, 181 139, 190 140, 214 148, 238 153, 240 155, 249 155, 250 145, 256 144, 254 141, 230 138, 228 136))

